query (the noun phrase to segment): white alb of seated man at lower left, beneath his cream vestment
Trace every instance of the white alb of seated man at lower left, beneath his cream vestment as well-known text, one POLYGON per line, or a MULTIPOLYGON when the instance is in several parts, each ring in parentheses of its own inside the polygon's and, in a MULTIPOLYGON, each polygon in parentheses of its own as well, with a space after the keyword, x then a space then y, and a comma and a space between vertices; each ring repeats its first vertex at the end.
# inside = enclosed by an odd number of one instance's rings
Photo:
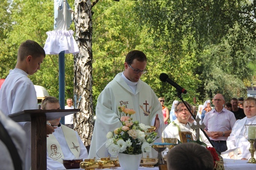
MULTIPOLYGON (((77 132, 74 131, 74 133, 76 133, 76 137, 78 139, 78 142, 79 142, 79 145, 81 148, 79 158, 87 159, 88 158, 87 149, 86 149, 84 143, 82 142, 82 140, 80 139, 80 137, 78 136, 77 132)), ((67 145, 67 142, 65 140, 64 133, 63 133, 61 126, 57 127, 57 129, 55 129, 55 132, 53 133, 53 135, 55 136, 55 138, 61 145, 62 152, 64 154, 64 158, 65 159, 75 159, 75 156, 72 154, 72 152, 70 151, 70 149, 67 145)), ((48 153, 47 153, 47 170, 65 170, 65 167, 62 163, 52 160, 48 156, 48 153)))

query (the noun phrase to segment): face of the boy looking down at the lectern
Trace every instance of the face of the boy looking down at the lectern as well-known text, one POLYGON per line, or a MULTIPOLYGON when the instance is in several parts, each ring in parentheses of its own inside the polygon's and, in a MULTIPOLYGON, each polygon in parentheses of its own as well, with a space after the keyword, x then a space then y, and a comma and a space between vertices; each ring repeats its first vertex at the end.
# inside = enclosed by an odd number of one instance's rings
POLYGON ((43 62, 44 56, 40 57, 27 57, 28 66, 28 74, 33 75, 37 70, 40 70, 40 64, 43 62))

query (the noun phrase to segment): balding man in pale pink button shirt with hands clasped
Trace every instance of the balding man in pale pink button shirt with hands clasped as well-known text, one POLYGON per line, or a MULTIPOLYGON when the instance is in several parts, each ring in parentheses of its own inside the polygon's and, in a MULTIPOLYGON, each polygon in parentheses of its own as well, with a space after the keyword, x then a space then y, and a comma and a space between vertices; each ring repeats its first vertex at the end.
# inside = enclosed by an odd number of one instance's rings
POLYGON ((207 113, 203 119, 206 126, 204 131, 221 152, 227 150, 226 140, 236 122, 234 114, 223 107, 224 103, 223 95, 216 94, 213 98, 215 109, 207 113))

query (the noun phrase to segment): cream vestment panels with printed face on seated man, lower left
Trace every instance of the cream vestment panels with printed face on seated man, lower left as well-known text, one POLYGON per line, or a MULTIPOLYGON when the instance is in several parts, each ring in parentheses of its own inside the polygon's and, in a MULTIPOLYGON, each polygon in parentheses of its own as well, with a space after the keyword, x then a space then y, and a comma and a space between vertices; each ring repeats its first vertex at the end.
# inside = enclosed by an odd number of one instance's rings
MULTIPOLYGON (((81 148, 77 140, 75 131, 64 125, 61 125, 61 128, 63 130, 65 141, 70 151, 75 156, 75 158, 79 158, 81 148)), ((62 147, 58 142, 58 140, 56 139, 56 137, 54 136, 54 133, 50 134, 49 137, 47 138, 47 151, 48 151, 48 156, 52 160, 63 163, 64 154, 62 151, 62 147)))

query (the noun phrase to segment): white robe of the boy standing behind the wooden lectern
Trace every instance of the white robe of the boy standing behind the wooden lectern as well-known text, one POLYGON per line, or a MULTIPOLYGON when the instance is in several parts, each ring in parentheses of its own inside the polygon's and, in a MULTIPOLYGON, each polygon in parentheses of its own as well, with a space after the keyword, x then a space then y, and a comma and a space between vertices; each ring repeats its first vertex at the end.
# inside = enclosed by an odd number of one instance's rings
MULTIPOLYGON (((18 68, 10 70, 0 89, 0 110, 9 115, 22 110, 38 109, 36 91, 28 74, 18 68)), ((27 155, 25 169, 31 167, 31 123, 19 122, 27 135, 27 155), (26 127, 25 127, 26 126, 26 127)))

